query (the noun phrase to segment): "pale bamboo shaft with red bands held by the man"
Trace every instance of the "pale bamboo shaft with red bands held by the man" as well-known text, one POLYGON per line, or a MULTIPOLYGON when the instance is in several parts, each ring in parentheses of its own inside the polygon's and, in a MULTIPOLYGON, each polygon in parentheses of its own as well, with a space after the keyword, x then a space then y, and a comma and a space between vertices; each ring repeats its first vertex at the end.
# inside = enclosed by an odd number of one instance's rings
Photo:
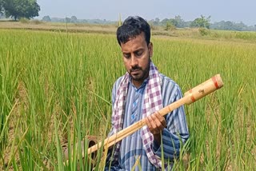
MULTIPOLYGON (((165 116, 167 113, 170 113, 174 109, 177 109, 181 105, 190 105, 194 101, 198 101, 200 98, 205 97, 207 94, 214 92, 216 89, 220 89, 223 86, 222 78, 219 74, 215 75, 213 78, 210 78, 206 82, 194 87, 187 91, 181 99, 175 101, 174 103, 167 105, 166 107, 158 110, 162 116, 165 116)), ((104 146, 104 149, 108 149, 110 146, 114 145, 118 141, 121 141, 123 138, 129 136, 130 134, 136 132, 138 129, 141 129, 146 125, 146 118, 134 123, 133 125, 128 126, 126 129, 122 129, 118 133, 107 137, 104 141, 98 142, 98 144, 91 146, 87 150, 87 154, 94 153, 98 149, 104 146)), ((84 151, 82 152, 82 157, 84 157, 84 151)))

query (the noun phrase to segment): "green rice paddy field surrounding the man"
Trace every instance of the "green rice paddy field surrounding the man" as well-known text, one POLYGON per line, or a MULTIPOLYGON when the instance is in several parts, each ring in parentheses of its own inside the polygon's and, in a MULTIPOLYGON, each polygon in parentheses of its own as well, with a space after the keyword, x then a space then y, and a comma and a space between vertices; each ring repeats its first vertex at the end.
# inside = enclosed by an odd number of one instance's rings
MULTIPOLYGON (((190 139, 174 170, 256 168, 256 41, 247 35, 153 36, 154 64, 183 93, 215 74, 224 82, 186 106, 190 139)), ((71 145, 107 136, 112 85, 125 72, 114 34, 0 30, 0 169, 90 170, 79 160, 86 145, 71 145), (66 164, 64 149, 74 152, 66 164)), ((101 149, 94 170, 102 158, 101 149)))

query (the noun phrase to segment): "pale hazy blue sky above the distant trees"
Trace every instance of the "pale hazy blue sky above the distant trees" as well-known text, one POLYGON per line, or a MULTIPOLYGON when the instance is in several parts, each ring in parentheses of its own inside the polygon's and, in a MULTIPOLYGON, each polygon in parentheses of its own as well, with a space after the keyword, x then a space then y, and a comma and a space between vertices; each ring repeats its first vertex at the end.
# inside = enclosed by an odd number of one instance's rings
POLYGON ((174 18, 180 15, 185 21, 211 16, 210 22, 243 22, 256 25, 256 0, 38 0, 41 10, 38 18, 76 16, 78 19, 106 19, 117 21, 130 15, 146 20, 174 18))

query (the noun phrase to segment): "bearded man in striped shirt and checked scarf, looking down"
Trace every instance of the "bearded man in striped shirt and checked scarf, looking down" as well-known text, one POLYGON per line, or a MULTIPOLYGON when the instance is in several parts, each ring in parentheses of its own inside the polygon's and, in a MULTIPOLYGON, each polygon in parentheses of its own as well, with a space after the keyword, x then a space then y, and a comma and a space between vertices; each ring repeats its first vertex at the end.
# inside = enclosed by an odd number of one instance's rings
POLYGON ((144 117, 146 126, 109 150, 105 169, 157 170, 161 169, 162 155, 167 160, 165 166, 171 167, 189 137, 184 107, 174 109, 166 117, 157 111, 181 98, 182 92, 174 81, 160 74, 151 61, 150 26, 143 18, 126 18, 118 27, 117 39, 127 72, 114 83, 109 135, 144 117))

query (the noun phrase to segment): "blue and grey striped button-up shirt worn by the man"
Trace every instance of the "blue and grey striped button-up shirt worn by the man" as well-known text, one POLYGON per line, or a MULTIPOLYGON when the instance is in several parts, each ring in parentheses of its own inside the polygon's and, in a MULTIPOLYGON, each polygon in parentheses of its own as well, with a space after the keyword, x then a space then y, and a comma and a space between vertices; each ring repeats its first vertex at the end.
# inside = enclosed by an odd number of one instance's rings
MULTIPOLYGON (((162 79, 162 105, 165 107, 181 98, 182 92, 179 86, 170 78, 167 78, 163 74, 160 74, 160 77, 162 79)), ((112 106, 114 106, 114 99, 121 80, 122 78, 118 78, 117 82, 114 83, 112 106)), ((142 105, 147 83, 148 80, 146 79, 140 87, 136 88, 130 80, 126 96, 123 129, 142 119, 142 105)), ((113 121, 112 125, 114 125, 113 121)), ((166 159, 174 161, 174 157, 179 157, 181 143, 185 143, 189 137, 183 106, 174 109, 174 111, 166 115, 166 125, 166 129, 162 132, 163 155, 166 159)), ((109 135, 112 134, 112 131, 110 131, 109 135)), ((161 147, 156 141, 153 142, 152 149, 155 154, 162 157, 161 147)), ((122 139, 118 164, 112 165, 110 170, 130 170, 134 167, 137 160, 139 160, 138 165, 142 170, 156 170, 154 165, 148 160, 146 152, 143 149, 141 129, 122 139)), ((138 165, 134 168, 135 170, 139 170, 138 165)), ((109 168, 107 166, 106 169, 108 170, 109 168)))

